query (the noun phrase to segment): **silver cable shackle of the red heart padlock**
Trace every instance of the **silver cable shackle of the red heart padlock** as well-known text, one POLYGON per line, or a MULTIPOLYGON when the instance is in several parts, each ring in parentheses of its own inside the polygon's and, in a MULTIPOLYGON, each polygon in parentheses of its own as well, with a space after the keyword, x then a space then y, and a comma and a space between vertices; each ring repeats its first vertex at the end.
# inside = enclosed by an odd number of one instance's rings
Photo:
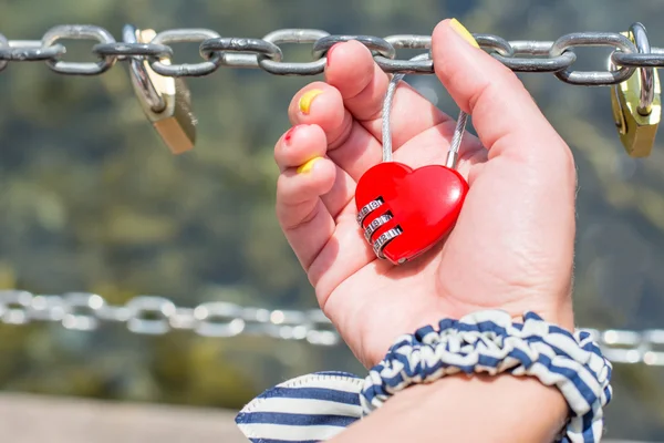
MULTIPOLYGON (((411 59, 411 61, 429 60, 430 54, 419 54, 411 59)), ((394 102, 394 95, 398 83, 404 79, 405 74, 395 74, 390 84, 387 85, 387 92, 383 100, 383 120, 382 120, 382 134, 383 134, 383 162, 392 162, 392 128, 390 127, 390 119, 392 115, 392 103, 394 102)), ((456 167, 457 158, 459 156, 459 147, 461 140, 464 138, 464 132, 466 130, 466 122, 468 121, 468 114, 464 111, 459 112, 457 124, 454 130, 449 151, 447 152, 447 162, 445 166, 449 168, 456 167)))

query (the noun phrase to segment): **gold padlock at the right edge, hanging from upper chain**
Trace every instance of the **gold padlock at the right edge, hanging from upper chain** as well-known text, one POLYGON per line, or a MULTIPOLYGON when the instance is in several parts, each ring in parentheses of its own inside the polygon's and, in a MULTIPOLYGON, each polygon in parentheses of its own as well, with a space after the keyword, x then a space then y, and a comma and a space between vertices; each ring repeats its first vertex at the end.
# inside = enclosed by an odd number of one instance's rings
MULTIPOLYGON (((635 23, 623 35, 639 52, 650 52, 645 28, 635 23)), ((647 157, 662 117, 660 76, 654 68, 639 68, 630 79, 611 86, 611 107, 620 141, 631 157, 647 157)))

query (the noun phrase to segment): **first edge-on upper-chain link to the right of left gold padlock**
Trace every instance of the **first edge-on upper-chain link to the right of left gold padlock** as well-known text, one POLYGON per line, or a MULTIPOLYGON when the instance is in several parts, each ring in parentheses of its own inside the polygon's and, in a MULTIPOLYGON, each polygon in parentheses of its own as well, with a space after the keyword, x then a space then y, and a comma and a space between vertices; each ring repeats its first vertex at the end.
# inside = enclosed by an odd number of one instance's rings
POLYGON ((208 39, 200 43, 200 55, 209 59, 214 54, 221 56, 222 65, 234 68, 258 68, 261 59, 271 59, 274 62, 280 62, 283 59, 281 49, 274 43, 261 39, 240 39, 236 37, 208 39))

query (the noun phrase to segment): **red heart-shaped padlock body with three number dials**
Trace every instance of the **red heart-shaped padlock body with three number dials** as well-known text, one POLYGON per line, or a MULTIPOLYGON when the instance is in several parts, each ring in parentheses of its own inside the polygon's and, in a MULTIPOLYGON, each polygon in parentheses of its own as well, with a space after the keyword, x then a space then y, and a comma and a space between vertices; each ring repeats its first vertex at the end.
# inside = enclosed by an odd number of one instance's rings
POLYGON ((464 177, 448 167, 380 163, 357 183, 357 222, 378 257, 403 264, 452 230, 467 193, 464 177))

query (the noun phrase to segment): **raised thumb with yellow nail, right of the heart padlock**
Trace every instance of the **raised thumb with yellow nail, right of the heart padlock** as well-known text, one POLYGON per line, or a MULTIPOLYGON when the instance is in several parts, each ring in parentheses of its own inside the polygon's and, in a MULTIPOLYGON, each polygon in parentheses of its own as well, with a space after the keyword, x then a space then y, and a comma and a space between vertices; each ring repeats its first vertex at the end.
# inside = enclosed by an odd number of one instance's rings
POLYGON ((479 140, 490 150, 489 158, 508 154, 543 164, 554 157, 564 161, 560 154, 569 151, 567 145, 516 74, 474 48, 474 39, 467 34, 469 43, 461 35, 465 30, 461 34, 455 30, 456 23, 445 20, 434 30, 434 68, 459 107, 473 115, 479 140), (542 140, 549 143, 533 143, 542 140))

